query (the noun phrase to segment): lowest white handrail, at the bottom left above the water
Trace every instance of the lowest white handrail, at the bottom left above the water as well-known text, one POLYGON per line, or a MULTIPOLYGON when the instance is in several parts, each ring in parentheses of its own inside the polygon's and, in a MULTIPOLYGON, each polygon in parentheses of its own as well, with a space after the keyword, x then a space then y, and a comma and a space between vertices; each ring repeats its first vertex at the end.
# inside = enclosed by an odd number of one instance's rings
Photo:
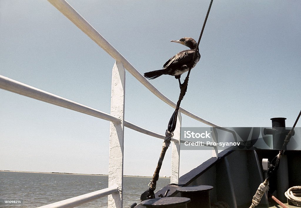
POLYGON ((81 204, 87 203, 89 201, 96 200, 101 197, 105 197, 105 196, 113 194, 113 193, 117 193, 118 191, 119 191, 118 186, 113 185, 109 188, 104 188, 104 189, 101 189, 98 191, 93 191, 88 194, 83 194, 83 195, 76 196, 76 197, 73 197, 70 199, 65 199, 62 201, 54 202, 51 204, 47 204, 45 206, 40 206, 39 208, 71 208, 71 207, 75 207, 75 206, 79 206, 81 204))

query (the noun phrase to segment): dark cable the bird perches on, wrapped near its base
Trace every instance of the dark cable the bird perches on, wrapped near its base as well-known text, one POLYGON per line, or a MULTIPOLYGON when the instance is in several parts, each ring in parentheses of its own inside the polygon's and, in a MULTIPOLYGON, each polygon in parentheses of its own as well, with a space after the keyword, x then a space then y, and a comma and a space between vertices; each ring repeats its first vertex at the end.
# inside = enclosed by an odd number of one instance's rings
MULTIPOLYGON (((199 40, 197 42, 197 47, 196 47, 196 50, 194 51, 194 57, 197 56, 197 53, 198 53, 198 50, 199 50, 198 46, 200 44, 200 40, 201 40, 202 35, 203 35, 203 31, 204 31, 204 28, 205 28, 205 25, 206 25, 206 22, 207 22, 207 19, 208 19, 208 15, 209 15, 209 12, 210 12, 210 9, 211 9, 212 2, 213 2, 213 0, 211 0, 211 2, 209 4, 209 8, 208 8, 208 11, 207 11, 204 23, 203 23, 203 27, 202 27, 202 30, 201 30, 201 33, 200 33, 200 37, 199 37, 199 40)), ((140 197, 141 201, 155 198, 154 190, 156 189, 157 181, 159 179, 159 172, 160 172, 160 169, 161 169, 161 166, 162 166, 162 162, 163 162, 166 150, 168 149, 168 147, 170 145, 171 138, 173 137, 173 131, 175 130, 176 123, 177 123, 178 110, 180 108, 181 101, 183 100, 183 98, 186 94, 186 91, 187 91, 190 71, 191 71, 191 68, 189 68, 184 82, 182 83, 182 85, 180 85, 181 92, 180 92, 180 95, 179 95, 177 106, 176 106, 175 111, 173 112, 173 114, 172 114, 172 116, 169 120, 168 127, 167 127, 166 132, 165 132, 166 137, 165 137, 163 145, 162 145, 162 151, 160 153, 160 158, 159 158, 156 170, 154 172, 153 178, 151 179, 151 181, 149 183, 150 188, 148 190, 146 190, 143 194, 141 194, 141 197, 140 197)))

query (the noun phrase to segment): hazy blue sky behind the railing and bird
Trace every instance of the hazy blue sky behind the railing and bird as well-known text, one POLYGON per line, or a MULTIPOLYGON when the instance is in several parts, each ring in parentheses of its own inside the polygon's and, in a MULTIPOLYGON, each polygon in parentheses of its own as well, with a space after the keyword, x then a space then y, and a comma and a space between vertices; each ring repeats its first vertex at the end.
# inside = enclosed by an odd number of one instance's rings
MULTIPOLYGON (((187 49, 170 40, 198 39, 210 1, 68 2, 143 74, 187 49)), ((301 108, 300 11, 298 0, 214 0, 181 106, 224 127, 271 127, 273 117, 291 127, 301 108)), ((110 113, 115 60, 49 2, 1 0, 0 37, 1 75, 110 113)), ((178 100, 174 77, 150 82, 178 100)), ((164 134, 172 112, 126 72, 127 121, 164 134)), ((0 170, 107 174, 109 125, 0 89, 0 170)), ((207 125, 182 114, 182 126, 207 125)), ((162 141, 126 128, 124 174, 152 176, 162 141)), ((182 151, 180 174, 210 155, 182 151)))

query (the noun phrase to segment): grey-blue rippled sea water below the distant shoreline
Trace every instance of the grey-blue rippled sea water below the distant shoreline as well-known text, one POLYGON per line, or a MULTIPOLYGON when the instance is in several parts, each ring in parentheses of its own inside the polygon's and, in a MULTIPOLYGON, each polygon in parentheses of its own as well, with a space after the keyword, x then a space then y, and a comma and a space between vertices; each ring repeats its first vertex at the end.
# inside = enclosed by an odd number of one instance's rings
MULTIPOLYGON (((150 180, 151 177, 124 176, 123 207, 139 203, 150 180)), ((160 178, 156 190, 169 182, 169 178, 160 178)), ((0 200, 21 201, 1 203, 0 207, 38 207, 107 187, 108 176, 0 171, 0 200)), ((78 207, 107 207, 107 197, 78 207)))

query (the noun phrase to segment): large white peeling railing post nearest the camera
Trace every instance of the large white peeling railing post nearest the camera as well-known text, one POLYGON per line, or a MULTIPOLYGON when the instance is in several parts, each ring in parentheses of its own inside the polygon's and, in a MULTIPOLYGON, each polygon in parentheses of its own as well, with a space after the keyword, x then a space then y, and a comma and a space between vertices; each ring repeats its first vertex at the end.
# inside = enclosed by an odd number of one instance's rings
POLYGON ((110 122, 109 184, 117 184, 119 193, 108 196, 108 208, 122 208, 123 137, 124 137, 125 70, 121 62, 112 69, 111 115, 120 122, 110 122))

